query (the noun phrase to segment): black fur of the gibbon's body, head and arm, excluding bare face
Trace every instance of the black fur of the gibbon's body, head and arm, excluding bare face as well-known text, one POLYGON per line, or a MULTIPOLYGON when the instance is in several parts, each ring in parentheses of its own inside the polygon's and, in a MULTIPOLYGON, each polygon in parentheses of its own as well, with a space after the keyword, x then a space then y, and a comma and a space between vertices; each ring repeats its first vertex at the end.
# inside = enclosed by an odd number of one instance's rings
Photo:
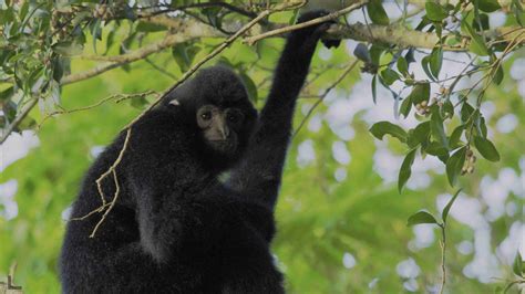
MULTIPOLYGON (((300 21, 316 18, 310 12, 300 21)), ((119 199, 101 214, 70 221, 60 259, 64 293, 284 293, 269 244, 274 207, 296 98, 323 23, 292 32, 257 118, 239 78, 207 69, 132 128, 116 168, 119 199), (178 106, 169 104, 177 99, 178 106), (204 104, 235 105, 245 116, 235 156, 209 150, 195 123, 204 104), (234 166, 235 165, 235 166, 234 166), (217 176, 231 169, 226 185, 217 176)), ((125 134, 87 171, 72 217, 101 206, 95 180, 115 161, 125 134)), ((103 181, 113 198, 113 177, 103 181)))

